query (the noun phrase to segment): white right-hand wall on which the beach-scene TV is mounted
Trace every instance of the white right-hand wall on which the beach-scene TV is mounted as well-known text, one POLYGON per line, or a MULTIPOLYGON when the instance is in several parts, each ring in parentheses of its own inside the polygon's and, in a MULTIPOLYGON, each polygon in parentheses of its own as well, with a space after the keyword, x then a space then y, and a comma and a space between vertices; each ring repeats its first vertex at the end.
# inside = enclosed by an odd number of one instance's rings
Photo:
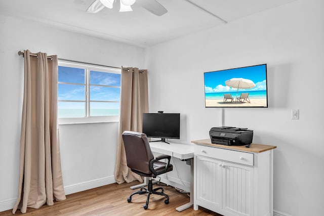
POLYGON ((275 145, 274 210, 323 215, 324 2, 300 0, 147 50, 150 111, 180 112, 181 142, 209 137, 204 72, 267 63, 269 108, 224 108, 224 124, 275 145), (291 119, 291 109, 300 119, 291 119))

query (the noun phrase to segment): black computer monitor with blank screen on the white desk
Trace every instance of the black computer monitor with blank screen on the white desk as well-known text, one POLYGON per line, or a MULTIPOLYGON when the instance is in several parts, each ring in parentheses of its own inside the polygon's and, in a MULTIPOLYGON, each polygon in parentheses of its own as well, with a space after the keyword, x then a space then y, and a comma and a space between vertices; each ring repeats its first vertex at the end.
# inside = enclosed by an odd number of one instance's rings
POLYGON ((147 137, 180 139, 180 113, 143 113, 142 132, 147 137))

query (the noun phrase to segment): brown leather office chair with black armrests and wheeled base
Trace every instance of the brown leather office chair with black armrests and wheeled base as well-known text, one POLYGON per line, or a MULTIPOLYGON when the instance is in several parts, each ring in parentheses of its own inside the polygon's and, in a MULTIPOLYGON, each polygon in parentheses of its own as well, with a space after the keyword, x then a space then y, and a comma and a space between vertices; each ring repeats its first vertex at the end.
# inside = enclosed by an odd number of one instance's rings
POLYGON ((164 202, 169 204, 169 196, 164 193, 163 188, 153 189, 152 178, 156 178, 156 176, 160 174, 172 171, 173 166, 170 164, 171 156, 160 155, 154 159, 147 137, 143 133, 125 131, 122 136, 125 146, 127 166, 136 174, 149 177, 147 188, 141 187, 139 191, 132 193, 127 201, 131 202, 132 196, 135 194, 147 194, 146 202, 143 205, 144 209, 147 209, 150 195, 157 194, 165 196, 167 199, 164 200, 164 202), (161 159, 168 159, 168 161, 159 161, 161 159), (157 192, 158 190, 161 190, 161 192, 157 192))

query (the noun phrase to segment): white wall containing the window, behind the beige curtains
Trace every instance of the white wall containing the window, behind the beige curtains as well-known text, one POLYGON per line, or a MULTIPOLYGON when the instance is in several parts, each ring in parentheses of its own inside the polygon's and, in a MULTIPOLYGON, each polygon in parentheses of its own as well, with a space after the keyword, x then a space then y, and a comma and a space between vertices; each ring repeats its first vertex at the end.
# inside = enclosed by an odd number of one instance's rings
MULTIPOLYGON (((120 67, 143 68, 144 49, 0 15, 0 211, 18 196, 23 62, 19 50, 120 67)), ((60 125, 65 191, 114 182, 118 123, 60 125)))

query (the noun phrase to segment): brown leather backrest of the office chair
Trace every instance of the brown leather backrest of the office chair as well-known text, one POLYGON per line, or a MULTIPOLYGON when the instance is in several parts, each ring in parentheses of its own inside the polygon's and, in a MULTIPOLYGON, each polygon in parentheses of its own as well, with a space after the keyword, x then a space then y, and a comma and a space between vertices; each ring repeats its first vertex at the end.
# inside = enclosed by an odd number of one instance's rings
POLYGON ((154 156, 146 135, 138 132, 125 131, 122 136, 127 166, 145 174, 151 174, 149 161, 154 159, 154 156))

